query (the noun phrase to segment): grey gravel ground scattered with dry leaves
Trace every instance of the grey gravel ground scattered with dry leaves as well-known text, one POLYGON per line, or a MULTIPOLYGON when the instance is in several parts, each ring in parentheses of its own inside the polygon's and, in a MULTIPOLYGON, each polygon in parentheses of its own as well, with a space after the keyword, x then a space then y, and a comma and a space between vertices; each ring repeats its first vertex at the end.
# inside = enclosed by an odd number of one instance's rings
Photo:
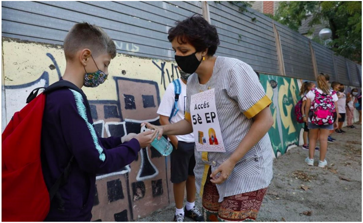
MULTIPOLYGON (((258 221, 361 222, 362 221, 362 126, 333 134, 325 168, 305 164, 308 151, 292 148, 274 160, 274 178, 262 203, 258 221), (304 187, 304 188, 302 188, 304 187)), ((196 205, 201 207, 197 197, 196 205)), ((142 222, 168 222, 174 217, 170 205, 141 218, 142 222)), ((192 221, 185 218, 185 221, 192 221)))

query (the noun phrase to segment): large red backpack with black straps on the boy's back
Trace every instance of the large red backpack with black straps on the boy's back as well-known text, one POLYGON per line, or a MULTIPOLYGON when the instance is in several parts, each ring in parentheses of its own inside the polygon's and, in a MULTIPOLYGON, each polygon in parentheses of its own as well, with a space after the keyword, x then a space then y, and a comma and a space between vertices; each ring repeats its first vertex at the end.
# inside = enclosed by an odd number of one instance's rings
POLYGON ((2 221, 43 221, 48 215, 50 201, 59 195, 58 188, 65 184, 69 176, 73 156, 56 183, 48 190, 40 158, 46 93, 61 88, 73 89, 85 97, 76 85, 65 80, 45 88, 38 97, 41 88, 36 88, 26 100, 28 105, 14 114, 1 135, 2 221))

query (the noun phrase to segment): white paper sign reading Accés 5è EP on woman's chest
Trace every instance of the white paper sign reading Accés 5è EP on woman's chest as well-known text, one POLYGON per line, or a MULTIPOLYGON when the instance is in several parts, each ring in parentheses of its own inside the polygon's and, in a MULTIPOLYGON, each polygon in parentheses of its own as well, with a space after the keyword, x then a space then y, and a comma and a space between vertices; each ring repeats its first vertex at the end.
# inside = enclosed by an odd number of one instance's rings
POLYGON ((190 111, 197 151, 225 152, 214 89, 192 95, 190 111))

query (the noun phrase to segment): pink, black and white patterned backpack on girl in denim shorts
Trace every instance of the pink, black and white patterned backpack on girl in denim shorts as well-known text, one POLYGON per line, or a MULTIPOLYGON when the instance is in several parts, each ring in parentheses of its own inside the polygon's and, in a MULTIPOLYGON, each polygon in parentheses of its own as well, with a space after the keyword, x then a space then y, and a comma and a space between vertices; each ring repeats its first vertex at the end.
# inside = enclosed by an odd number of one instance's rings
POLYGON ((334 123, 335 104, 333 95, 337 92, 325 94, 319 93, 316 88, 312 89, 315 93, 315 98, 311 102, 310 112, 312 112, 311 123, 315 125, 331 125, 334 123))

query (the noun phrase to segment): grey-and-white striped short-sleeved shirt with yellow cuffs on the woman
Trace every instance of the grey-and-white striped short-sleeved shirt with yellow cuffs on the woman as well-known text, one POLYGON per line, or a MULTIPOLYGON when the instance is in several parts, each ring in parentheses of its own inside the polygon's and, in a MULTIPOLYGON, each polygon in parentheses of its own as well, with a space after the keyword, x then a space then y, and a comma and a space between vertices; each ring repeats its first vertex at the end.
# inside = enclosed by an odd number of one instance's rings
MULTIPOLYGON (((252 126, 252 117, 271 104, 256 73, 246 63, 218 56, 209 81, 200 84, 193 73, 187 83, 185 118, 190 120, 193 94, 215 89, 216 108, 226 152, 198 152, 194 168, 197 192, 202 195, 209 167, 215 171, 238 147, 252 126)), ((216 185, 219 202, 224 197, 266 188, 272 179, 272 146, 268 133, 234 167, 223 184, 216 185)))

